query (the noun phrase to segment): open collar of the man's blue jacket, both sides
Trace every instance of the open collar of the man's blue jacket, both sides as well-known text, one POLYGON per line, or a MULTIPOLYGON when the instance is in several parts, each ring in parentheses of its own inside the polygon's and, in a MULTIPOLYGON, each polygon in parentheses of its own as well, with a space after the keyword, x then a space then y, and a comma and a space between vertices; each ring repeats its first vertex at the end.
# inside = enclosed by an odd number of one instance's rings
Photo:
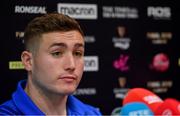
MULTIPOLYGON (((26 80, 21 80, 18 83, 17 90, 13 93, 12 98, 13 102, 17 108, 23 114, 35 114, 35 115, 45 115, 31 100, 31 98, 24 91, 26 85, 26 80)), ((67 114, 68 115, 79 115, 86 113, 86 107, 84 103, 79 101, 72 95, 68 96, 67 100, 67 114)))

